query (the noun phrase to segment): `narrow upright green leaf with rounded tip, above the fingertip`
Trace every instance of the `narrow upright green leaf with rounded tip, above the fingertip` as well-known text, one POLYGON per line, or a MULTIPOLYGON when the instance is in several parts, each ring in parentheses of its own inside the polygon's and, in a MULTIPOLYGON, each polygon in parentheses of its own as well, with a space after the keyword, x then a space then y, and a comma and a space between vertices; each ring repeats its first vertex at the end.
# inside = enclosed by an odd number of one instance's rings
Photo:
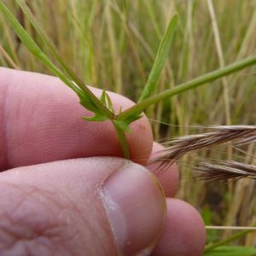
POLYGON ((147 84, 145 85, 138 102, 142 102, 144 99, 148 98, 148 96, 150 96, 155 90, 157 79, 159 79, 160 77, 160 73, 165 65, 166 58, 171 48, 173 34, 175 32, 175 28, 177 27, 177 21, 178 15, 175 14, 173 15, 172 20, 170 21, 169 26, 166 29, 166 33, 160 43, 154 60, 154 65, 148 76, 147 84))

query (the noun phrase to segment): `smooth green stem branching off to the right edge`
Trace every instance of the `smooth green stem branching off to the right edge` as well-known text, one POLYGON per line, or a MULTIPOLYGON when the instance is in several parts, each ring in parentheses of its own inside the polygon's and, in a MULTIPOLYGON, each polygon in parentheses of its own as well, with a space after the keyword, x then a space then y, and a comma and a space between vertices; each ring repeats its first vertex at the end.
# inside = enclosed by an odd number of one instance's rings
POLYGON ((244 59, 241 61, 236 61, 235 63, 232 63, 226 67, 219 68, 218 70, 202 75, 199 78, 193 79, 184 84, 179 84, 175 86, 173 89, 165 90, 160 94, 157 94, 155 96, 152 96, 144 100, 143 102, 138 102, 137 105, 127 109, 123 113, 120 113, 116 119, 122 120, 122 119, 126 119, 131 114, 142 113, 145 108, 148 108, 148 106, 152 104, 160 102, 168 97, 183 93, 184 91, 195 89, 196 87, 202 84, 212 82, 213 80, 227 76, 230 73, 235 73, 237 71, 240 71, 245 67, 253 66, 254 64, 256 64, 256 55, 253 55, 252 57, 248 57, 247 59, 244 59))

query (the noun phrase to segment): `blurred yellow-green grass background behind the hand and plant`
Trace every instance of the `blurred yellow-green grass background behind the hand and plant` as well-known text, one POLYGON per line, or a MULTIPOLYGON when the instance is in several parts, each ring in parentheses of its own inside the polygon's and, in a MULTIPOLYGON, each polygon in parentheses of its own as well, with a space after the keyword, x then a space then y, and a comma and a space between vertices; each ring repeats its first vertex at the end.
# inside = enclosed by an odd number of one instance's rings
MULTIPOLYGON (((44 49, 15 1, 3 0, 3 3, 44 49)), ((179 14, 180 21, 158 90, 172 88, 256 53, 256 1, 27 0, 26 3, 86 84, 118 92, 134 101, 148 78, 160 39, 174 12, 179 14)), ((49 73, 27 52, 2 15, 0 34, 1 66, 49 73)), ((203 131, 195 129, 195 125, 255 125, 255 74, 256 68, 250 67, 149 108, 148 117, 156 120, 152 121, 155 139, 203 131)), ((255 147, 243 150, 247 154, 242 160, 256 164, 255 147)), ((204 152, 201 157, 232 159, 236 154, 228 147, 218 150, 218 154, 204 152)), ((190 156, 180 163, 182 180, 177 197, 194 205, 207 225, 256 224, 253 180, 194 182, 190 177, 193 163, 190 156)), ((230 230, 210 230, 208 241, 228 235, 230 230)), ((239 244, 256 246, 255 233, 239 244)))

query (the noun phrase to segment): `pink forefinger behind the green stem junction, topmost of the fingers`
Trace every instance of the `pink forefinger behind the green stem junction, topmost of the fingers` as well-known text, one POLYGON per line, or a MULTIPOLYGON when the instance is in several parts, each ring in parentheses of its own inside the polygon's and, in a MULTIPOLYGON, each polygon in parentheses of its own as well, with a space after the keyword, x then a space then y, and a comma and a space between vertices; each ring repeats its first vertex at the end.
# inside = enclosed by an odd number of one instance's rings
MULTIPOLYGON (((102 90, 90 88, 96 96, 102 90)), ((134 103, 109 92, 119 111, 134 103)), ((91 113, 59 79, 0 68, 0 170, 96 155, 122 156, 112 123, 86 122, 91 113)), ((145 164, 153 137, 143 117, 127 135, 131 160, 145 164)))

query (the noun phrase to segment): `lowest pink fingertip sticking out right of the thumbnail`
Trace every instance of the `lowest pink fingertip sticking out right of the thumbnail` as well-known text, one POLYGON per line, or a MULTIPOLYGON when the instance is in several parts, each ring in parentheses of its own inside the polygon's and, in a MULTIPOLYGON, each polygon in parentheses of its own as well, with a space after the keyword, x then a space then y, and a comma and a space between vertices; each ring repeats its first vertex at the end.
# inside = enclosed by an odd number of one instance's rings
POLYGON ((166 227, 152 255, 201 256, 206 231, 199 213, 188 203, 167 199, 166 227))

